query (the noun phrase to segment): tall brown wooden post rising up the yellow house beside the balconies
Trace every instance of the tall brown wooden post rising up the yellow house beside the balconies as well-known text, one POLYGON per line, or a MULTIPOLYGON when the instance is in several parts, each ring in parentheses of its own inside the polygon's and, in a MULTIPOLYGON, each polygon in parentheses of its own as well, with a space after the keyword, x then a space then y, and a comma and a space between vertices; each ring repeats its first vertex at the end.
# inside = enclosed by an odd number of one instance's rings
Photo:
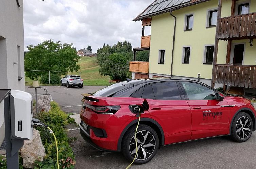
MULTIPOLYGON (((217 20, 221 17, 221 9, 222 9, 222 0, 218 2, 218 15, 217 20)), ((216 27, 219 27, 219 22, 217 22, 216 27)), ((214 43, 214 52, 213 52, 213 70, 212 70, 212 87, 214 88, 214 74, 215 74, 215 65, 217 64, 217 55, 218 55, 218 46, 219 46, 219 39, 218 39, 218 29, 216 29, 215 33, 215 43, 214 43)))

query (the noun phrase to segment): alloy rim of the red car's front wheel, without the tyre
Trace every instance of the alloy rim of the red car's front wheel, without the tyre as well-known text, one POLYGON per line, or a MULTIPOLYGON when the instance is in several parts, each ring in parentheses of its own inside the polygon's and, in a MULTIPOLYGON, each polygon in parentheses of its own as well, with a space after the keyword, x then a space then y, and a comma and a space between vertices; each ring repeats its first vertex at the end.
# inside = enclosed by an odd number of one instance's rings
POLYGON ((238 119, 236 123, 236 134, 240 139, 246 139, 251 133, 251 120, 242 116, 238 119))

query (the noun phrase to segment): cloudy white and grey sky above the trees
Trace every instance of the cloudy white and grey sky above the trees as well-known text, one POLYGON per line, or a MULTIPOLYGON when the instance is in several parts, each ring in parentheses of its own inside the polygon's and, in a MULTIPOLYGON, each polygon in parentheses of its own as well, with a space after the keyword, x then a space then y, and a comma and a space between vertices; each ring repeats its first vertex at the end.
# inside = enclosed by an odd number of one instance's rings
MULTIPOLYGON (((76 49, 130 41, 139 47, 141 21, 132 22, 153 0, 24 0, 25 47, 53 39, 76 49)), ((147 33, 149 30, 147 30, 147 33)), ((25 49, 26 51, 26 49, 25 49)))

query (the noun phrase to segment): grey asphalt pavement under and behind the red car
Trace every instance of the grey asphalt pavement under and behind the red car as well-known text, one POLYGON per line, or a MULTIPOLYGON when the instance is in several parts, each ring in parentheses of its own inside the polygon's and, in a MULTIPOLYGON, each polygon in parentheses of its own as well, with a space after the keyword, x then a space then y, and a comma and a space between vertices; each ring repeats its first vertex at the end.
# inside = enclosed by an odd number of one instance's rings
MULTIPOLYGON (((63 108, 66 112, 79 112, 81 93, 99 90, 99 86, 85 86, 83 89, 46 86, 53 99, 60 106, 76 106, 63 108)), ((34 90, 26 91, 33 94, 34 90)), ((42 89, 39 89, 43 93, 42 89)), ((77 115, 79 116, 79 115, 77 115)), ((79 121, 79 117, 78 117, 79 121)), ((69 125, 70 129, 78 128, 69 125)), ((70 143, 76 155, 77 169, 126 168, 129 163, 121 153, 108 153, 95 150, 80 136, 79 130, 70 130, 69 137, 77 137, 70 143)), ((256 132, 245 143, 236 143, 227 137, 200 140, 190 143, 162 147, 156 156, 147 164, 133 165, 131 168, 255 168, 256 166, 256 132)))

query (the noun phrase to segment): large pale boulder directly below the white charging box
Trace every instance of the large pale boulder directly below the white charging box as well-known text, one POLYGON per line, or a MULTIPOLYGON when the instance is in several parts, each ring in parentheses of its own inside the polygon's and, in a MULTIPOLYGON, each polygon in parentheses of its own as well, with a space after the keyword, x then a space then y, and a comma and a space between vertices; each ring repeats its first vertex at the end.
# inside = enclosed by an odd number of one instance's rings
POLYGON ((46 154, 38 130, 33 129, 32 140, 24 140, 24 145, 20 149, 20 153, 23 158, 24 168, 34 168, 36 160, 43 161, 43 157, 46 154))

